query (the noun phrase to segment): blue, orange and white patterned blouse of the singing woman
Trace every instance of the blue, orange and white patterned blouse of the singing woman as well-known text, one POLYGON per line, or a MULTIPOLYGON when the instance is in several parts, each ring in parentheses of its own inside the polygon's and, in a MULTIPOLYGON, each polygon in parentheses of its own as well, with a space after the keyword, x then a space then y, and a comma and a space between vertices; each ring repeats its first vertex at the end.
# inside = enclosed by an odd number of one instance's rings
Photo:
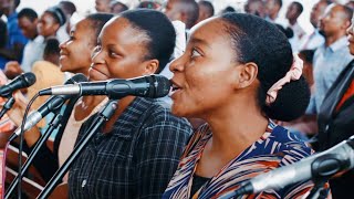
MULTIPOLYGON (((313 154, 311 148, 289 130, 270 122, 266 133, 256 143, 227 164, 194 196, 190 196, 196 165, 211 136, 212 133, 208 125, 194 134, 163 198, 220 198, 237 190, 240 184, 257 175, 292 164, 313 154)), ((309 193, 312 187, 311 181, 305 181, 281 190, 267 190, 242 198, 300 198, 309 193)))

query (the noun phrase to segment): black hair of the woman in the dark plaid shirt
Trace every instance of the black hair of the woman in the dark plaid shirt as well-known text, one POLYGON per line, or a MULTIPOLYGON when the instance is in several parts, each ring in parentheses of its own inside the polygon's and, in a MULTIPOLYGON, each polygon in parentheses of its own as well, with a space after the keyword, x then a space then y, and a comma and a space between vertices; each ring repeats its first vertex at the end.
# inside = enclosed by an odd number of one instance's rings
POLYGON ((127 19, 134 29, 149 38, 146 46, 148 54, 145 60, 157 59, 159 66, 156 73, 163 71, 170 60, 176 40, 174 25, 168 18, 163 12, 152 9, 128 10, 119 15, 127 19))

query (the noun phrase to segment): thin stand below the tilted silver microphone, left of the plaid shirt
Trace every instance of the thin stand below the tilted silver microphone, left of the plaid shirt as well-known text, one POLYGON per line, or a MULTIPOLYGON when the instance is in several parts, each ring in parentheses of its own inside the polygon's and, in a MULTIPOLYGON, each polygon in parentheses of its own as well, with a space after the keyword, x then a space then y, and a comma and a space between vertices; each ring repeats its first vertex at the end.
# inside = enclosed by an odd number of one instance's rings
MULTIPOLYGON (((29 155, 27 161, 24 163, 24 165, 22 166, 21 169, 21 177, 23 177, 24 172, 30 168, 31 163, 33 161, 35 155, 38 154, 38 151, 41 149, 41 147, 43 146, 43 144, 45 143, 45 140, 50 137, 51 133, 59 126, 59 124, 61 124, 62 121, 62 115, 61 114, 56 114, 55 117, 52 118, 51 123, 49 124, 48 129, 45 130, 44 135, 40 137, 40 139, 37 142, 33 150, 31 151, 31 154, 29 155)), ((21 156, 21 154, 19 155, 21 156)), ((11 185, 9 186, 4 198, 9 198, 11 196, 11 193, 13 192, 15 186, 19 182, 19 176, 18 175, 13 181, 11 182, 11 185)))

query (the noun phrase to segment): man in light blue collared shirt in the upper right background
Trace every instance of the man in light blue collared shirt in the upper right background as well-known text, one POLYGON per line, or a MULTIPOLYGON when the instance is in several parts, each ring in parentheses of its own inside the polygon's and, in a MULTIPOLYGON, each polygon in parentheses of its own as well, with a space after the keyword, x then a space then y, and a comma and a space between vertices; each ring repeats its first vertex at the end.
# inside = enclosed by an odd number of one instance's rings
POLYGON ((308 114, 317 114, 323 98, 335 78, 353 60, 347 48, 346 29, 351 25, 353 11, 342 4, 331 4, 320 22, 320 32, 325 43, 314 53, 314 93, 311 96, 308 114))

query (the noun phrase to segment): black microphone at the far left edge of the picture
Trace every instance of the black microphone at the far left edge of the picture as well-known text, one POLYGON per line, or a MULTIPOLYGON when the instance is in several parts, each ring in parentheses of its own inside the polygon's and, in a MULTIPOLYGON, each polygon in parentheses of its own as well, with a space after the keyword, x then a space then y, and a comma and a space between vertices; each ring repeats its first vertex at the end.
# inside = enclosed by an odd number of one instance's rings
POLYGON ((22 73, 11 82, 0 87, 0 96, 10 97, 15 90, 29 87, 35 83, 35 75, 33 73, 22 73))

